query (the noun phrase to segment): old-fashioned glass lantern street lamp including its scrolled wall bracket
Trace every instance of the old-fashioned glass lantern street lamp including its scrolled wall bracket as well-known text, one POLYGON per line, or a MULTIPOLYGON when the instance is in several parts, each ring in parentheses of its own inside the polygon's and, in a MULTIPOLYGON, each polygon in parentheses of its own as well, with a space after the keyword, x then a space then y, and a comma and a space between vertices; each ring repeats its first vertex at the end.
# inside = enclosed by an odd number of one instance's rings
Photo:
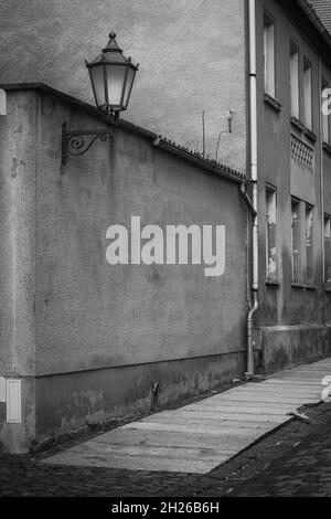
POLYGON ((126 57, 116 42, 115 32, 109 33, 109 42, 102 54, 92 62, 85 61, 89 72, 96 106, 107 115, 108 130, 68 130, 62 125, 62 163, 67 153, 84 155, 93 144, 113 139, 113 127, 118 124, 119 113, 126 110, 139 65, 126 57), (86 139, 87 138, 87 142, 86 139))

